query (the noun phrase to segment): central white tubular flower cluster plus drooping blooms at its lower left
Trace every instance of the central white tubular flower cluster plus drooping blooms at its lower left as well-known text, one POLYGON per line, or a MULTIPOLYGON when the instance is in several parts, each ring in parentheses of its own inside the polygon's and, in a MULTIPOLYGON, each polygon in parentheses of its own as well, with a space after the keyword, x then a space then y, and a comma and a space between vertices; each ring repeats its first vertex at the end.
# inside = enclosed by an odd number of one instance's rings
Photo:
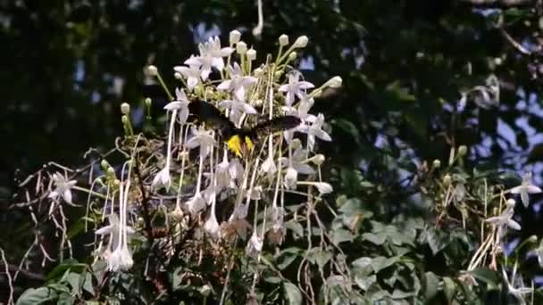
MULTIPOLYGON (((152 182, 146 189, 151 193, 147 196, 164 198, 161 204, 166 198, 175 198, 174 208, 165 203, 163 207, 178 230, 181 223, 192 222, 200 224, 200 235, 212 240, 241 235, 247 241, 246 253, 257 258, 266 242, 283 240, 289 216, 286 197, 311 203, 333 191, 322 181, 325 157, 317 152, 317 139, 331 141, 331 137, 324 115, 310 111, 327 87, 341 86, 341 78, 331 78, 321 87, 304 80, 291 63, 296 50, 307 42, 307 37, 298 37, 288 47, 288 37, 283 35, 277 57, 268 56, 256 64, 256 51, 247 49, 234 30, 229 46, 223 47, 219 37, 211 37, 198 45, 199 54, 173 68, 180 86, 171 103, 164 106, 170 118, 165 153, 152 156, 155 171, 151 169, 153 176, 147 181, 152 182), (220 128, 205 124, 205 120, 192 120, 198 115, 190 110, 195 101, 210 103, 240 129, 287 115, 297 117, 300 124, 289 129, 271 128, 251 141, 238 138, 231 143, 220 128), (229 144, 236 145, 236 153, 229 151, 229 144), (219 217, 219 209, 230 212, 219 217), (252 231, 250 235, 247 230, 252 231)), ((149 66, 148 72, 170 95, 156 67, 149 66)), ((106 196, 111 208, 109 226, 96 231, 96 235, 109 235, 107 245, 98 253, 113 271, 132 265, 128 240, 134 230, 129 227, 127 204, 134 162, 128 162, 128 173, 123 170, 121 181, 111 184, 112 192, 106 196), (119 202, 119 216, 114 202, 119 202)))

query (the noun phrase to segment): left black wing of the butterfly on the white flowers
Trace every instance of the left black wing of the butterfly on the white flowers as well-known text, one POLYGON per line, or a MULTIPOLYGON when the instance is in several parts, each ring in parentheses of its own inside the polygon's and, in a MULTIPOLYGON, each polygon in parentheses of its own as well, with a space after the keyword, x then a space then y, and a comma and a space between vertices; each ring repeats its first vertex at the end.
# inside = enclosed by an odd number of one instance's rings
POLYGON ((221 130, 221 133, 231 134, 236 126, 212 103, 194 101, 188 103, 188 112, 193 120, 205 123, 210 128, 221 130))

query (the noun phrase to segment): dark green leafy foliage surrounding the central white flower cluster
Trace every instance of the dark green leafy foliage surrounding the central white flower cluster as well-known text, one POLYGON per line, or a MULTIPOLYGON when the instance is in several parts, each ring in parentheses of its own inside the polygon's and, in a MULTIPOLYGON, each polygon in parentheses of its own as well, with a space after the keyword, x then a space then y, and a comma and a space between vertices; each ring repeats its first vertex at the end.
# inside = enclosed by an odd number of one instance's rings
MULTIPOLYGON (((232 303, 506 303, 521 300, 511 288, 530 288, 540 275, 539 237, 530 237, 541 235, 538 197, 525 206, 511 193, 526 172, 541 181, 541 1, 263 1, 258 37, 251 35, 257 5, 246 1, 5 1, 0 13, 8 63, 0 71, 8 147, 0 194, 12 197, 0 245, 20 303, 120 295, 213 302, 226 276, 217 268, 228 260, 236 261, 232 303), (301 215, 314 212, 313 221, 287 222, 284 243, 264 246, 260 262, 244 255, 241 242, 227 252, 203 243, 199 262, 191 256, 198 253, 188 253, 149 277, 154 243, 139 234, 134 268, 108 272, 88 256, 85 209, 66 206, 68 231, 54 231, 49 205, 42 205, 51 188, 43 182, 58 167, 46 162, 81 169, 74 173, 81 182, 104 173, 104 158, 125 161, 109 151, 125 131, 125 101, 133 128, 162 141, 170 98, 146 66, 171 69, 196 54, 197 43, 213 35, 226 41, 232 29, 258 50, 257 62, 275 52, 281 34, 305 35, 309 44, 297 50, 305 79, 343 78, 313 108, 330 119, 324 128, 333 141, 319 149, 334 193, 314 211, 298 202, 301 215), (522 229, 486 221, 500 216, 522 229), (313 238, 326 243, 307 242, 313 238), (180 278, 187 270, 194 273, 189 282, 180 278)), ((163 78, 168 87, 178 84, 173 73, 163 78)))

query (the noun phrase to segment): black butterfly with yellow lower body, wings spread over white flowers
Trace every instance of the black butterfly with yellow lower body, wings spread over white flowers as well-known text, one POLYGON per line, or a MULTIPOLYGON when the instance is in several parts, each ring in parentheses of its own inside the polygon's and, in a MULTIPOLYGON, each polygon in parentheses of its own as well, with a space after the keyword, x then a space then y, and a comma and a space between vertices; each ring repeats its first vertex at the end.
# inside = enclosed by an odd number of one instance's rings
POLYGON ((275 117, 272 120, 264 120, 251 128, 237 128, 217 107, 205 101, 188 103, 188 112, 193 120, 219 130, 230 151, 234 152, 238 157, 241 157, 245 151, 252 151, 259 136, 297 128, 302 122, 295 116, 285 115, 275 117))

